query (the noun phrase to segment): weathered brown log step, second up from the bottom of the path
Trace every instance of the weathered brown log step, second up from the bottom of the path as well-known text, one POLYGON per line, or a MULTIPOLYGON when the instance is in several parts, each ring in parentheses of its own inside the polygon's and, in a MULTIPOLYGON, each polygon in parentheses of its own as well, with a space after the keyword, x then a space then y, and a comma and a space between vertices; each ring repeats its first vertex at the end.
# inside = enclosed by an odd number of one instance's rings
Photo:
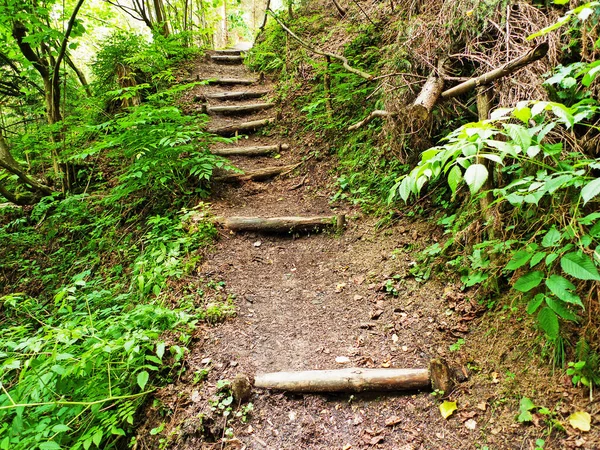
MULTIPOLYGON (((315 229, 334 228, 343 229, 345 217, 339 216, 317 216, 317 217, 216 217, 214 222, 228 228, 231 231, 253 231, 262 233, 293 233, 296 231, 310 231, 315 229), (340 226, 341 224, 341 226, 340 226)), ((263 380, 270 380, 269 375, 264 374, 263 380), (266 378, 264 378, 266 377, 266 378)), ((266 381, 265 381, 266 383, 266 381)), ((268 387, 256 385, 256 387, 268 387)))

